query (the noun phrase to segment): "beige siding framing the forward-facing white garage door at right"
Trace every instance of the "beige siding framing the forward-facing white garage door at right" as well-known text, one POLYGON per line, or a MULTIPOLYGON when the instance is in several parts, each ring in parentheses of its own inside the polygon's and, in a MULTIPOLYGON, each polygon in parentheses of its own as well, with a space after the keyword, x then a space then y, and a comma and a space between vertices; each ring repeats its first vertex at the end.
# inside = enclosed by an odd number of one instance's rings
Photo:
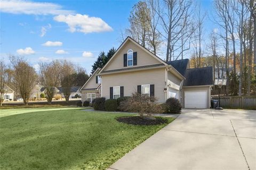
POLYGON ((187 91, 207 91, 207 108, 210 108, 211 106, 211 90, 210 86, 190 86, 190 87, 182 87, 182 107, 185 107, 185 99, 184 99, 184 94, 187 91))

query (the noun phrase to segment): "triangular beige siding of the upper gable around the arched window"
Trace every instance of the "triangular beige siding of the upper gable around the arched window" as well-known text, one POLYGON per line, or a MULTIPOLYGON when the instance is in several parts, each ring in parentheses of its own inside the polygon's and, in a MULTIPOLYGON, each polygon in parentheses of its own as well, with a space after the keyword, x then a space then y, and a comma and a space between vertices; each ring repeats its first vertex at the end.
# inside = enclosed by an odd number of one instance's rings
POLYGON ((127 53, 128 50, 132 49, 133 52, 137 52, 137 66, 129 66, 129 67, 138 67, 138 66, 147 66, 151 64, 159 64, 161 63, 153 56, 149 55, 145 52, 142 47, 137 44, 134 44, 130 40, 124 44, 124 46, 116 53, 113 59, 108 63, 104 71, 128 68, 124 67, 124 54, 127 53))

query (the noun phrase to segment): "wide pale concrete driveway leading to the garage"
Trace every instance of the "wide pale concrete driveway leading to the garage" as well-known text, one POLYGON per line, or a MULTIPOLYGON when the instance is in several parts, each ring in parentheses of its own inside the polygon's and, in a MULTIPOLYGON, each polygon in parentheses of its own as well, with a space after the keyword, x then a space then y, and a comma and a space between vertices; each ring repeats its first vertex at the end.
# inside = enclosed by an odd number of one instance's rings
POLYGON ((256 169, 256 111, 184 109, 109 169, 256 169))

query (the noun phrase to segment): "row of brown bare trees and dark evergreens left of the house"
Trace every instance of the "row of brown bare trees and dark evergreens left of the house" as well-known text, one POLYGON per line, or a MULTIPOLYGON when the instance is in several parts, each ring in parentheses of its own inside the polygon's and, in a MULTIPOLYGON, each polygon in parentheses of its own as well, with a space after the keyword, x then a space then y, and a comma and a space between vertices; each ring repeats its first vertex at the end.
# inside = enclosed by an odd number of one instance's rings
MULTIPOLYGON (((100 52, 97 60, 92 65, 93 72, 99 67, 102 68, 114 55, 116 49, 111 48, 107 54, 100 52)), ((8 88, 12 88, 19 94, 27 105, 29 98, 37 84, 42 85, 45 90, 45 98, 51 104, 57 87, 62 88, 66 102, 69 102, 71 88, 82 87, 89 79, 86 70, 67 60, 53 60, 51 62, 39 62, 39 71, 21 56, 10 56, 10 64, 0 60, 0 105, 2 106, 4 94, 8 88)))

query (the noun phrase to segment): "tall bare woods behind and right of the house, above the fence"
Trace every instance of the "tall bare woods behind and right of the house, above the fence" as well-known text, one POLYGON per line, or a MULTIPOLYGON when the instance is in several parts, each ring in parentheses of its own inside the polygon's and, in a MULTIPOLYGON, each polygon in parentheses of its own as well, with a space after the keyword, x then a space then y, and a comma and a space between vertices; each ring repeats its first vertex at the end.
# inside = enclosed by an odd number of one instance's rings
POLYGON ((214 78, 227 78, 226 95, 256 93, 256 1, 214 0, 213 9, 192 0, 139 1, 121 39, 131 36, 166 61, 186 57, 190 67, 213 66, 214 78), (217 25, 209 35, 206 20, 217 25))

